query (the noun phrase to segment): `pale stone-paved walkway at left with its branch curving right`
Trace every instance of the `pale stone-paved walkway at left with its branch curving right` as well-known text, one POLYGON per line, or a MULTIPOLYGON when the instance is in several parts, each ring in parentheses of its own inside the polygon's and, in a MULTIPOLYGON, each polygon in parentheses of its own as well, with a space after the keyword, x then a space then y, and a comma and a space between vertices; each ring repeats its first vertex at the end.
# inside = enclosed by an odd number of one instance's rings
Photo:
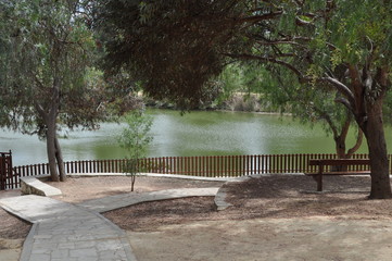
POLYGON ((33 223, 21 261, 134 261, 125 232, 99 212, 153 200, 215 196, 217 191, 213 187, 124 194, 79 206, 28 195, 0 199, 0 206, 33 223))

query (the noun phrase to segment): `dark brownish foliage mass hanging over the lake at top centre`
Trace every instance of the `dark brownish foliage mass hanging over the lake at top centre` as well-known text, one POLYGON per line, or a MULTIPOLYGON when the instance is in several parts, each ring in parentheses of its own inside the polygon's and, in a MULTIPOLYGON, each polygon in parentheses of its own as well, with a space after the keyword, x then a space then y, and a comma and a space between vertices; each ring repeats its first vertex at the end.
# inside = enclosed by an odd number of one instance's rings
POLYGON ((211 79, 226 64, 222 53, 243 45, 232 37, 240 29, 232 17, 242 8, 241 1, 99 1, 105 71, 125 67, 144 94, 182 108, 215 98, 211 79))

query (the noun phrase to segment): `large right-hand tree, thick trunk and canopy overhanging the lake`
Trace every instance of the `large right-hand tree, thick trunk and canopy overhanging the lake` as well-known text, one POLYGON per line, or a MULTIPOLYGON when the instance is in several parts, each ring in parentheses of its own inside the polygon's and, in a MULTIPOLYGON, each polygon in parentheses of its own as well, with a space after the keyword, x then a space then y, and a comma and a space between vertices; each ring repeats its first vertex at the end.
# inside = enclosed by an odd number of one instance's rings
POLYGON ((367 139, 369 197, 391 198, 382 125, 391 5, 389 0, 104 0, 97 17, 112 36, 106 69, 126 67, 157 98, 184 104, 203 99, 205 83, 230 60, 284 66, 303 88, 338 91, 336 101, 367 139))

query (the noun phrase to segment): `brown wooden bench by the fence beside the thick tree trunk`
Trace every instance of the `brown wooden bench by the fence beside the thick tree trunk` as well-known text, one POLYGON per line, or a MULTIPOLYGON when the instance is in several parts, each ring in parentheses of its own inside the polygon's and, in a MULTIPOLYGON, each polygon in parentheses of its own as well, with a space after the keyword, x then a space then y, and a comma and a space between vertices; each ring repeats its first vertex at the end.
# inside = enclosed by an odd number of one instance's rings
POLYGON ((368 159, 328 159, 328 160, 309 160, 309 165, 318 165, 317 173, 305 173, 313 176, 317 182, 317 191, 323 191, 323 175, 370 175, 370 171, 325 171, 324 166, 342 166, 350 165, 369 165, 368 159))

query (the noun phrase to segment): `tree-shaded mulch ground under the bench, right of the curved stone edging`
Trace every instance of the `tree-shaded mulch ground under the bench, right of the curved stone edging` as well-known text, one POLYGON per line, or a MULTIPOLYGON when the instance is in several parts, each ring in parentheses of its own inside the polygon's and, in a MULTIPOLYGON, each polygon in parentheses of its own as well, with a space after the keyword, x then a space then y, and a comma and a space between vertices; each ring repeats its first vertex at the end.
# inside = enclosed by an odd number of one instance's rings
POLYGON ((370 178, 333 176, 325 178, 325 191, 315 191, 313 178, 271 175, 228 184, 230 211, 242 209, 246 217, 330 216, 344 219, 390 219, 390 200, 368 200, 370 178))

